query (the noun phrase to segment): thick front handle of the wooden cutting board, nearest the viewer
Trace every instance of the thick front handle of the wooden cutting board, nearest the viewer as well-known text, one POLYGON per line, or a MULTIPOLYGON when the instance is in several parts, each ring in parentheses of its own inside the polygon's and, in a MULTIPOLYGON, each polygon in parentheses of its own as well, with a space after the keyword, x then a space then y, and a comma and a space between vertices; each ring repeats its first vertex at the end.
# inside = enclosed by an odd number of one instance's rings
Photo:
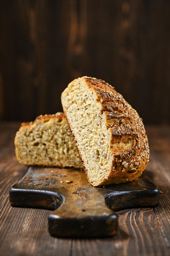
POLYGON ((66 197, 63 204, 48 218, 49 232, 56 236, 102 237, 113 236, 118 229, 118 217, 105 204, 105 198, 99 192, 89 194, 83 200, 66 197))

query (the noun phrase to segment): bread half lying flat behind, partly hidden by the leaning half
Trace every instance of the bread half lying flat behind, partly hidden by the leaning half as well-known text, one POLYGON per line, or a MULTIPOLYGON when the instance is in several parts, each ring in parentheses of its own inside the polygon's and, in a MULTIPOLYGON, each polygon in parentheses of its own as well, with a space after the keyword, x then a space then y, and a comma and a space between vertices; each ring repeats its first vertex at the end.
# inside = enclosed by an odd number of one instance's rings
POLYGON ((14 143, 17 160, 24 165, 83 168, 63 113, 22 123, 14 143))

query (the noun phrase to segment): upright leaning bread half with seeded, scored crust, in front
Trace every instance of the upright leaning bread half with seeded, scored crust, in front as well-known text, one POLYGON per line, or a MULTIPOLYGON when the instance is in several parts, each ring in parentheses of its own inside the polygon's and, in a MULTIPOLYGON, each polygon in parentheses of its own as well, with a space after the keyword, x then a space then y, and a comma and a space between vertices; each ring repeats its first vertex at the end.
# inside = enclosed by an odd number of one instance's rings
POLYGON ((63 110, 93 186, 131 182, 149 161, 142 119, 111 85, 82 77, 62 93, 63 110))

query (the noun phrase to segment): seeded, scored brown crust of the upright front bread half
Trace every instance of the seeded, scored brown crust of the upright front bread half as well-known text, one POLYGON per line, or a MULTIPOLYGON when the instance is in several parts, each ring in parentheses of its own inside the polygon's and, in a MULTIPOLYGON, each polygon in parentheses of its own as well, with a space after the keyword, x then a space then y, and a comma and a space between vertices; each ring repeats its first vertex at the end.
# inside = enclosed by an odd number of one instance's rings
MULTIPOLYGON (((110 133, 112 165, 108 177, 99 183, 98 186, 133 181, 142 174, 149 162, 148 138, 142 118, 124 100, 123 96, 105 81, 86 76, 79 79, 84 80, 89 90, 97 94, 97 102, 100 104, 105 125, 110 133), (126 150, 120 147, 120 142, 126 143, 128 141, 131 141, 131 148, 126 150)), ((64 105, 63 109, 67 118, 64 105)), ((68 124, 72 131, 72 124, 69 121, 68 124)), ((74 134, 73 137, 77 144, 74 134)), ((79 150, 78 154, 82 160, 79 150)), ((83 160, 82 164, 88 181, 92 183, 88 177, 88 171, 83 160)))

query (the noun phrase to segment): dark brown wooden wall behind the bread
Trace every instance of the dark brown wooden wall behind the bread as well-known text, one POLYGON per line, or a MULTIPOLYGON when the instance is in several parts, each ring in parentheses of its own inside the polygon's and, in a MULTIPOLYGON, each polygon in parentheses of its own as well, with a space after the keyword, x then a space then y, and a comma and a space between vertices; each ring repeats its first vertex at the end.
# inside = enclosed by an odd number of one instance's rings
POLYGON ((104 79, 145 123, 169 121, 168 0, 1 0, 0 115, 62 111, 74 78, 104 79))

